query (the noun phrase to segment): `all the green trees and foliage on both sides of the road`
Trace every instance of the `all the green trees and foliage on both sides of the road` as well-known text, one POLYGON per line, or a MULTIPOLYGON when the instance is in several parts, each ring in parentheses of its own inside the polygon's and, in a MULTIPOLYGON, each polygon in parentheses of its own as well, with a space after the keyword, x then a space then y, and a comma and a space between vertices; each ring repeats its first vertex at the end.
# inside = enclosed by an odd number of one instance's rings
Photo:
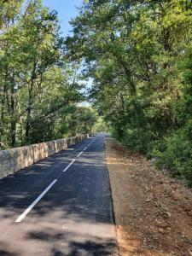
POLYGON ((0 9, 2 149, 110 127, 192 185, 191 0, 86 0, 67 38, 40 0, 0 9))

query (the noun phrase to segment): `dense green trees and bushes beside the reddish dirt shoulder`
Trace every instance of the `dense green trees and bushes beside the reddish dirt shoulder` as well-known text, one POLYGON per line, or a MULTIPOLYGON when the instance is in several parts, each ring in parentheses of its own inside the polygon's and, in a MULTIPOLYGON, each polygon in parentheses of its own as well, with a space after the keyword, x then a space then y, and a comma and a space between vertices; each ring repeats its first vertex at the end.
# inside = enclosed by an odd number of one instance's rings
POLYGON ((113 135, 192 184, 191 1, 89 0, 72 24, 68 55, 113 135))

